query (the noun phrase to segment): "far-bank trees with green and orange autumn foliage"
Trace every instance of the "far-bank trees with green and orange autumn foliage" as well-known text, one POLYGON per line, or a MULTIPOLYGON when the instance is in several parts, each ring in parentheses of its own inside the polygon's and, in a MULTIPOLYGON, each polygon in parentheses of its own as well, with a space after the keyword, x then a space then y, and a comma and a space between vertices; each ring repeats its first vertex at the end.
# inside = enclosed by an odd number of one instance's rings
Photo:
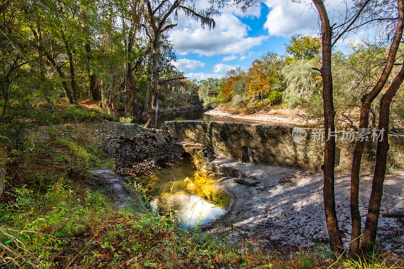
MULTIPOLYGON (((293 36, 286 46, 290 56, 268 52, 252 62, 244 71, 230 70, 223 78, 200 81, 199 95, 205 105, 223 106, 247 113, 270 110, 274 104, 298 107, 308 120, 323 121, 321 40, 310 36, 293 36)), ((396 59, 386 88, 399 71, 401 54, 396 59)), ((358 122, 361 97, 376 84, 383 70, 388 48, 377 44, 351 45, 345 55, 335 51, 332 57, 334 105, 336 124, 352 127, 358 122)), ((377 123, 379 96, 371 108, 371 124, 377 123)), ((402 87, 391 106, 392 131, 402 131, 404 126, 404 90, 402 87)))

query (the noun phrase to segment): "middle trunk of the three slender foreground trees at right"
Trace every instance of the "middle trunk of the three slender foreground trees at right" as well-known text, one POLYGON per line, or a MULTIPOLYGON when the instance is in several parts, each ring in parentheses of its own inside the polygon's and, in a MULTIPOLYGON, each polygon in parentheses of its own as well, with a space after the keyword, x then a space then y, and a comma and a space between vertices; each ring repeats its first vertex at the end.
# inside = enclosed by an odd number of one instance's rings
MULTIPOLYGON (((361 115, 359 122, 359 130, 366 130, 369 126, 369 112, 373 100, 379 95, 383 89, 386 81, 391 73, 397 49, 402 37, 404 27, 404 10, 403 0, 398 0, 398 21, 395 30, 393 42, 390 46, 386 65, 377 81, 375 87, 367 94, 365 94, 361 101, 361 115)), ((351 241, 349 244, 349 255, 352 258, 357 258, 360 250, 360 237, 361 237, 361 214, 359 211, 359 182, 360 182, 360 169, 362 162, 362 153, 365 147, 365 141, 357 140, 354 149, 354 156, 352 158, 351 170, 351 185, 350 185, 350 212, 352 219, 351 241)))

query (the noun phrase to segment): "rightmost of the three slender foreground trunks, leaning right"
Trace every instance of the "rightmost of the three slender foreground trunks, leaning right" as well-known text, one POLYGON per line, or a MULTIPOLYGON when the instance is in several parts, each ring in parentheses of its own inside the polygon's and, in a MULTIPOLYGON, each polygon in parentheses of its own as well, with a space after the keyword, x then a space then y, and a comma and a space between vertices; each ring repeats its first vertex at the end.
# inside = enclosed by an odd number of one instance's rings
POLYGON ((380 138, 377 141, 376 150, 376 165, 375 173, 373 175, 372 191, 369 199, 368 216, 366 217, 365 230, 363 232, 363 238, 361 243, 362 252, 373 251, 373 247, 376 241, 377 224, 380 215, 380 203, 383 194, 384 177, 386 174, 387 164, 387 151, 389 149, 388 144, 388 126, 390 116, 390 103, 404 80, 404 65, 401 67, 400 72, 394 78, 390 87, 388 87, 385 94, 380 100, 379 110, 379 133, 380 138))

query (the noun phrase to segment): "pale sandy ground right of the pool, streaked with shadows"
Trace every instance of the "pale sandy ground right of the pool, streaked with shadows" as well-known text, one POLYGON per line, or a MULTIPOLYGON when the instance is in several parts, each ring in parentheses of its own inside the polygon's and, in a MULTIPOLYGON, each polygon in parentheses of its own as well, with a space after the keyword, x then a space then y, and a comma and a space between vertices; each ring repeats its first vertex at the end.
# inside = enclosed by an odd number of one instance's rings
MULTIPOLYGON (((287 248, 296 245, 327 245, 322 193, 322 174, 264 165, 240 164, 219 158, 218 166, 235 168, 257 178, 255 187, 224 178, 218 186, 233 195, 225 216, 204 227, 211 233, 230 231, 233 243, 247 241, 262 248, 287 248), (245 230, 249 229, 249 231, 245 230)), ((254 180, 248 180, 250 182, 254 180)), ((363 226, 369 201, 372 177, 361 178, 360 210, 363 226)), ((343 241, 348 246, 350 234, 349 175, 336 175, 337 214, 343 241)), ((404 219, 386 218, 384 213, 404 212, 404 174, 387 175, 384 184, 377 240, 384 251, 404 255, 404 219)))

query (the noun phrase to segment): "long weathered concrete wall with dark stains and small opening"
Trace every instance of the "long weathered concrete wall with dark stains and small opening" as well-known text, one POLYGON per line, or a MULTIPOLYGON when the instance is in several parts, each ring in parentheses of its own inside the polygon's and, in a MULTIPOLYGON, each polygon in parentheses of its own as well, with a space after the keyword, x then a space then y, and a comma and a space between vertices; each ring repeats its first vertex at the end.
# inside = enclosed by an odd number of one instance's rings
MULTIPOLYGON (((242 124, 228 122, 173 121, 163 126, 174 139, 183 142, 201 143, 212 147, 215 153, 241 159, 242 147, 251 151, 251 162, 282 167, 320 170, 323 163, 323 143, 312 141, 312 131, 305 129, 308 137, 301 142, 292 141, 292 127, 242 124)), ((349 172, 354 142, 345 142, 338 137, 340 158, 336 160, 340 172, 349 172)), ((404 139, 389 137, 388 169, 404 170, 404 139)), ((339 150, 337 150, 339 151, 339 150)), ((376 143, 367 142, 362 171, 374 169, 376 143)))

